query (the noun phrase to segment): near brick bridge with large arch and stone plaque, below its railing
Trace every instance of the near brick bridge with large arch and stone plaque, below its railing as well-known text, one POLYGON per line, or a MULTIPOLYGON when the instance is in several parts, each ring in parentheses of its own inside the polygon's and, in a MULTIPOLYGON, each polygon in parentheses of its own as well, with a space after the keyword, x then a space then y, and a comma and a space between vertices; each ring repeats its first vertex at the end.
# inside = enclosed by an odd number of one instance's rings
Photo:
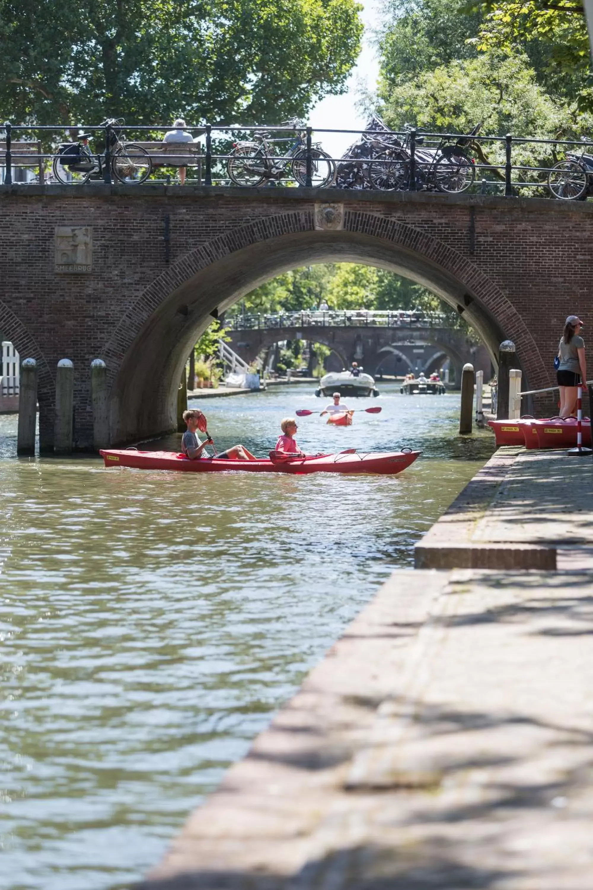
POLYGON ((75 365, 76 447, 92 442, 95 358, 108 366, 111 441, 170 430, 180 371, 209 313, 300 265, 372 263, 426 285, 493 357, 513 339, 530 388, 554 382, 565 316, 587 315, 589 203, 98 184, 2 186, 0 201, 0 329, 39 363, 42 448, 52 447, 60 359, 75 365), (84 227, 90 262, 69 268, 58 238, 84 227))

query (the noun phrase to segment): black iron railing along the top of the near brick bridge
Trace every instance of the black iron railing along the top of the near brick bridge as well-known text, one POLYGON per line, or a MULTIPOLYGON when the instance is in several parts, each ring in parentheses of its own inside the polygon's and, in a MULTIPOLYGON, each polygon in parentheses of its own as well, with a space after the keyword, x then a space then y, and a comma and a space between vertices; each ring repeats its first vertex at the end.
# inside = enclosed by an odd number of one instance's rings
POLYGON ((584 140, 421 133, 406 128, 363 134, 322 129, 316 131, 319 142, 315 142, 311 127, 298 121, 275 126, 208 124, 186 127, 195 142, 185 150, 177 144, 168 163, 163 135, 170 127, 126 125, 117 142, 114 134, 122 126, 114 120, 84 127, 6 122, 4 134, 0 132, 2 182, 16 184, 15 170, 20 169, 27 182, 48 187, 56 182, 170 183, 173 168, 187 167, 187 182, 205 186, 467 191, 573 200, 587 198, 589 188, 593 194, 589 153, 593 142, 584 140), (60 151, 62 143, 76 145, 79 129, 92 134, 95 145, 94 150, 85 146, 82 170, 60 151), (351 136, 352 150, 341 158, 331 157, 323 150, 324 134, 351 136))

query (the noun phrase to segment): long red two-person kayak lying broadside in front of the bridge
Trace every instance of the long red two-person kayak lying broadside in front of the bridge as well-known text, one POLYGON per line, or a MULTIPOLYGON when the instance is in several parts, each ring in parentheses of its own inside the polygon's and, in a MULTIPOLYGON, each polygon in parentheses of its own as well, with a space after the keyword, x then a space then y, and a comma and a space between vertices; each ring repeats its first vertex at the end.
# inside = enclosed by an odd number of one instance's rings
POLYGON ((100 451, 106 466, 130 466, 137 470, 180 470, 183 473, 220 473, 242 470, 244 473, 381 473, 395 475, 413 464, 420 451, 387 451, 374 454, 322 454, 312 457, 262 457, 258 460, 228 460, 200 457, 189 460, 174 451, 137 451, 104 449, 100 451))

